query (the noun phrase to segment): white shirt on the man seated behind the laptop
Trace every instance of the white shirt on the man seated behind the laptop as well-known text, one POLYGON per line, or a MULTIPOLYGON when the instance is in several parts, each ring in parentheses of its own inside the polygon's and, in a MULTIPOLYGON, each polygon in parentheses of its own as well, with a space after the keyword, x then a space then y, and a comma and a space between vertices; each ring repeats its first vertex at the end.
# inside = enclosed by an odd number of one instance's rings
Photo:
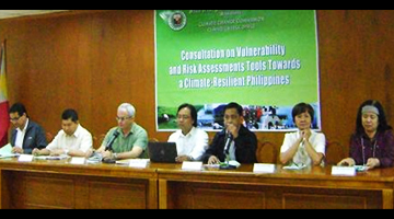
POLYGON ((183 135, 182 130, 171 134, 167 141, 176 143, 178 155, 189 155, 194 160, 200 160, 208 148, 208 134, 193 127, 187 135, 183 135))

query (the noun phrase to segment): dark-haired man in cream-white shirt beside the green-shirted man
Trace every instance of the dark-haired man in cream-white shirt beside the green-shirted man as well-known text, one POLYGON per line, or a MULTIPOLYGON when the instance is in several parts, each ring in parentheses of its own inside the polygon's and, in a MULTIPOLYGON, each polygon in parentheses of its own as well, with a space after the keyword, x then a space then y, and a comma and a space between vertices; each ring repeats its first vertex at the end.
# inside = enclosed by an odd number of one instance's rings
POLYGON ((68 108, 61 115, 62 129, 54 140, 44 149, 33 149, 34 155, 60 155, 88 157, 93 148, 92 135, 79 124, 78 114, 68 108))

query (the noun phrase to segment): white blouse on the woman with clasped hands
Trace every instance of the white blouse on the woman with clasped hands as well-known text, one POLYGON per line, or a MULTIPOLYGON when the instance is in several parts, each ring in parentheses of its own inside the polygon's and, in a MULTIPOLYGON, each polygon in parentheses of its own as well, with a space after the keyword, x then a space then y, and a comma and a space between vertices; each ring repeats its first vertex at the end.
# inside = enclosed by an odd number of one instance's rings
MULTIPOLYGON (((280 152, 286 152, 289 150, 289 148, 300 138, 300 131, 290 132, 285 135, 283 145, 280 147, 280 152)), ((311 130, 311 137, 309 138, 309 142, 311 143, 312 148, 317 153, 325 154, 325 136, 322 132, 316 132, 314 130, 311 130)), ((308 155, 308 152, 305 150, 304 143, 301 141, 294 157, 292 158, 292 162, 297 164, 305 164, 305 165, 312 165, 312 160, 308 155)), ((324 164, 324 162, 322 162, 324 164)))

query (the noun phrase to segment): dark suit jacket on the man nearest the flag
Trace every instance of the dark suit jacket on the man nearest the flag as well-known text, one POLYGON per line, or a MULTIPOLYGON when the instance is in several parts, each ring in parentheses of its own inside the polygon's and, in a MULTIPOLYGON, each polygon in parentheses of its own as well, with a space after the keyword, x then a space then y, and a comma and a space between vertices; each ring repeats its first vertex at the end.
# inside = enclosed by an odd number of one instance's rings
MULTIPOLYGON (((16 140, 16 128, 12 129, 11 146, 15 146, 16 140)), ((24 153, 32 153, 34 148, 43 149, 48 145, 44 129, 36 123, 28 119, 26 134, 23 139, 23 151, 24 153)))

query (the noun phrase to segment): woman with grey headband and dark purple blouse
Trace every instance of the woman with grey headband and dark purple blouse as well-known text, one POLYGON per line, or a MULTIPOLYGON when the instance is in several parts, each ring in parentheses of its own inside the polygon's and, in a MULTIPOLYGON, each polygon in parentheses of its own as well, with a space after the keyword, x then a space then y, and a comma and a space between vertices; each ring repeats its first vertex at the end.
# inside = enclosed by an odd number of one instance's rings
POLYGON ((357 113, 356 131, 350 137, 349 158, 338 165, 390 168, 394 162, 394 137, 379 101, 363 102, 357 113))

